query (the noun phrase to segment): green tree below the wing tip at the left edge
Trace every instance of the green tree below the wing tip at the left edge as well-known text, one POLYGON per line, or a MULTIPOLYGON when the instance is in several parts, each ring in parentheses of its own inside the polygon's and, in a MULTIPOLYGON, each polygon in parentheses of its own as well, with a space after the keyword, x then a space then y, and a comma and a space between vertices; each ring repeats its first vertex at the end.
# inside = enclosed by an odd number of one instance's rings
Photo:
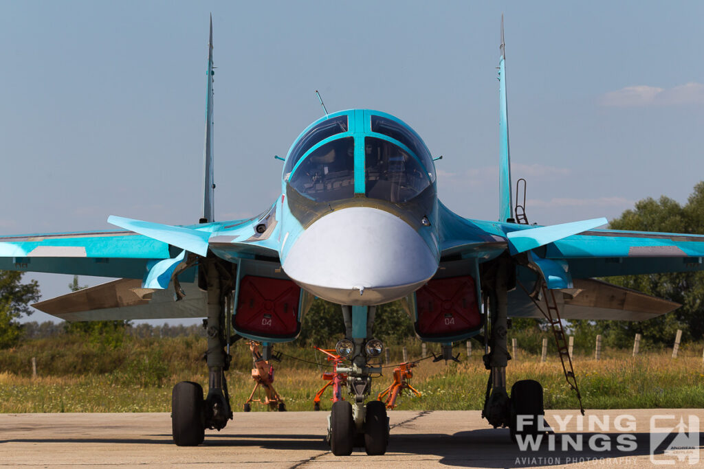
POLYGON ((23 272, 0 271, 0 348, 12 347, 22 336, 17 319, 32 314, 30 302, 39 301, 39 283, 22 283, 23 272))

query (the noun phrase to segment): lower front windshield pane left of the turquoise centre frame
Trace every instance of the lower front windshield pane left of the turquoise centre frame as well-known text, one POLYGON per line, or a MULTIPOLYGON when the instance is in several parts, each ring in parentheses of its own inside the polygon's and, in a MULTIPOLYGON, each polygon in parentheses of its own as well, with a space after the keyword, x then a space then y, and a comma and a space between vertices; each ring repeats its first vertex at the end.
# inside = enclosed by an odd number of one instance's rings
POLYGON ((306 156, 289 184, 319 202, 354 197, 354 139, 325 143, 306 156))

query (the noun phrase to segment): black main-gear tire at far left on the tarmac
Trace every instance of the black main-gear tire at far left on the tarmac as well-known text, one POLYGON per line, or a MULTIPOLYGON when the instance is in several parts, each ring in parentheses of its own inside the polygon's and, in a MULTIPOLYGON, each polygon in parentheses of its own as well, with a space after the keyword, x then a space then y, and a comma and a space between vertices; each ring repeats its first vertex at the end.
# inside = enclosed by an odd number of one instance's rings
POLYGON ((183 381, 171 393, 171 433, 177 446, 198 446, 205 437, 203 388, 183 381))

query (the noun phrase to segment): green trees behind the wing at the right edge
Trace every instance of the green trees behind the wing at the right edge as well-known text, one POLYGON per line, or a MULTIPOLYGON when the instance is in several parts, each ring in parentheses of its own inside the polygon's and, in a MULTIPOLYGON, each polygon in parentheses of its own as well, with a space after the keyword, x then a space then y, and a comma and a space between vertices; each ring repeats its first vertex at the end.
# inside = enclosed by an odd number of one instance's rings
MULTIPOLYGON (((704 233, 704 181, 694 186, 686 205, 660 197, 647 198, 626 210, 610 222, 611 229, 633 231, 664 231, 667 233, 704 233)), ((578 324, 579 328, 594 328, 612 345, 629 345, 636 333, 653 342, 669 343, 677 329, 685 338, 704 337, 704 272, 677 274, 650 274, 606 278, 610 283, 639 290, 682 306, 676 311, 648 321, 599 321, 596 324, 578 324)))

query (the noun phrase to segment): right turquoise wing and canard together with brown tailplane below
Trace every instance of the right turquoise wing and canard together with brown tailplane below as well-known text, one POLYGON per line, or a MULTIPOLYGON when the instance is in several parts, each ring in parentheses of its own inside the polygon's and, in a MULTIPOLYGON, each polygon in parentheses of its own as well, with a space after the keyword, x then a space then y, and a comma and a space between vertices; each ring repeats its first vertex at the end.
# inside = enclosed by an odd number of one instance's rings
MULTIPOLYGON (((642 321, 679 307, 593 277, 704 270, 703 235, 582 230, 589 221, 536 227, 472 220, 444 205, 440 217, 441 263, 468 257, 481 263, 503 252, 513 255, 520 264, 518 281, 529 292, 540 279, 562 292, 555 297, 564 319, 642 321)), ((511 316, 542 317, 520 286, 510 293, 509 302, 511 316)))

